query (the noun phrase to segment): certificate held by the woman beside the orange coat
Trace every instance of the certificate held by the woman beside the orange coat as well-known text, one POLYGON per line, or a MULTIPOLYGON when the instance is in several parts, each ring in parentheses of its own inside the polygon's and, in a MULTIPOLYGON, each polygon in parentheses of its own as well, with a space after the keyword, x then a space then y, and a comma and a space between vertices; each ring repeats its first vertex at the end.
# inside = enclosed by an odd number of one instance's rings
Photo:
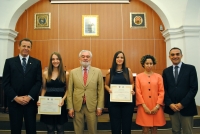
POLYGON ((132 102, 132 85, 111 84, 110 102, 132 102))

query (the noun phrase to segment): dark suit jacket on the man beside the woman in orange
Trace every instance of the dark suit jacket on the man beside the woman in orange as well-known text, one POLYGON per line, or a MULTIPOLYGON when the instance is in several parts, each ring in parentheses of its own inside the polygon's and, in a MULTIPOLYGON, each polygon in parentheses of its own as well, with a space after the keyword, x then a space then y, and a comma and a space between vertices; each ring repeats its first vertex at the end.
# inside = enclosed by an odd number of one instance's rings
POLYGON ((197 115, 195 96, 198 91, 198 80, 195 67, 182 63, 176 84, 173 66, 170 66, 163 71, 163 81, 165 88, 165 113, 174 114, 169 105, 181 103, 184 106, 180 111, 181 115, 197 115))

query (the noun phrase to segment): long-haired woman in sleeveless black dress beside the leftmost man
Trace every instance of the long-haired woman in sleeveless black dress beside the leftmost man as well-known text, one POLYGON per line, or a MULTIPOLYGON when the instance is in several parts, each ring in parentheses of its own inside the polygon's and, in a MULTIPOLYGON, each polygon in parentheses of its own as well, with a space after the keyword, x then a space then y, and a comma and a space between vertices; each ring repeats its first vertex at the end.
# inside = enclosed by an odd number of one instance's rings
MULTIPOLYGON (((41 115, 40 121, 47 126, 48 134, 64 134, 64 123, 67 122, 67 110, 65 99, 67 97, 67 83, 69 73, 65 72, 61 55, 53 52, 50 56, 49 67, 43 73, 43 84, 41 96, 62 97, 59 104, 61 107, 61 115, 41 115)), ((40 102, 37 103, 40 106, 40 102)))

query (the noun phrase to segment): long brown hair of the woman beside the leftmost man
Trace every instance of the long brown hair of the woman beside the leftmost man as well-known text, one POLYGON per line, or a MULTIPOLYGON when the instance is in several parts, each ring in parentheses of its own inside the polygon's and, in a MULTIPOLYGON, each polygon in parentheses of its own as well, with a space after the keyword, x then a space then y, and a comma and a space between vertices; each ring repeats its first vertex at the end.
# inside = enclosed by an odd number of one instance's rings
POLYGON ((52 56, 53 55, 58 56, 58 59, 60 60, 60 65, 58 66, 58 80, 65 82, 66 74, 65 74, 64 67, 63 67, 62 57, 61 57, 60 53, 58 53, 58 52, 53 52, 50 56, 47 81, 50 81, 51 77, 52 77, 52 72, 53 72, 52 56))

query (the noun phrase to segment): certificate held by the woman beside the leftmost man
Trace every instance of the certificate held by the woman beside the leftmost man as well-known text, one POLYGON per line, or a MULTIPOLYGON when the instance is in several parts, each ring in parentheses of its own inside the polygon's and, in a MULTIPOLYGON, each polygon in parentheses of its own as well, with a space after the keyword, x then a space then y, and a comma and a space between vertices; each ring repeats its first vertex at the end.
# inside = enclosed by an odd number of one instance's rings
POLYGON ((61 107, 58 104, 61 99, 61 97, 39 96, 38 114, 60 115, 61 107))

